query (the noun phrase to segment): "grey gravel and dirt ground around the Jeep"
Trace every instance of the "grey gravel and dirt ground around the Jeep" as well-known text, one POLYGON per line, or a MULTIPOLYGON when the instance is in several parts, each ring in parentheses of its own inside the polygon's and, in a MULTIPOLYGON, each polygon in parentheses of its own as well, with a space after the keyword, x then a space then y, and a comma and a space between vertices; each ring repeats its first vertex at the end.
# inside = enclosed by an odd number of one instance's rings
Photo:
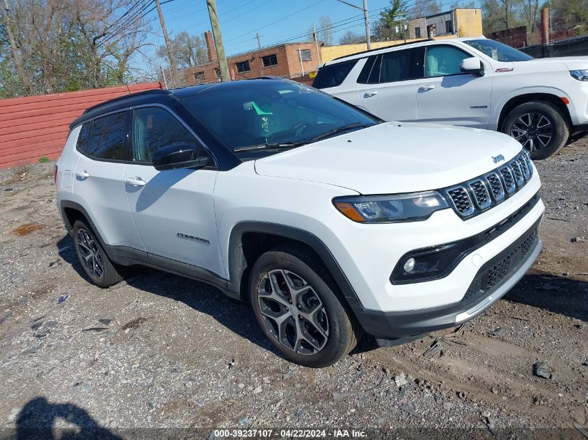
POLYGON ((458 332, 395 348, 365 338, 323 369, 282 359, 246 305, 205 284, 138 270, 91 285, 56 211, 53 165, 1 170, 0 439, 320 427, 585 440, 588 138, 537 167, 545 249, 511 293, 458 332), (533 374, 539 362, 547 377, 533 374))

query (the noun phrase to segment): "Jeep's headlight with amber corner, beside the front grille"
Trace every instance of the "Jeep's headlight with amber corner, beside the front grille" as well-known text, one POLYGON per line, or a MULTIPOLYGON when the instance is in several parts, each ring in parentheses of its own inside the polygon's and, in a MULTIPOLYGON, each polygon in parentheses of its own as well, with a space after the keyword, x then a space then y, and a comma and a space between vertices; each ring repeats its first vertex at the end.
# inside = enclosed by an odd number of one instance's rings
POLYGON ((336 197, 333 204, 345 217, 360 223, 418 222, 450 207, 437 191, 336 197))

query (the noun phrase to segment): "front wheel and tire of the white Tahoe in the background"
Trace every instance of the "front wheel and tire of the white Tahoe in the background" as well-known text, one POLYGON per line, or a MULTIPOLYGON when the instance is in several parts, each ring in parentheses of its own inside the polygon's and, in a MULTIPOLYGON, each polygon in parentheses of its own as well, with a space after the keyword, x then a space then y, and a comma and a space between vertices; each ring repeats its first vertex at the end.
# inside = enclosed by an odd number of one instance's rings
POLYGON ((570 136, 566 117, 547 101, 530 101, 513 108, 502 123, 502 133, 515 138, 532 159, 559 152, 570 136))

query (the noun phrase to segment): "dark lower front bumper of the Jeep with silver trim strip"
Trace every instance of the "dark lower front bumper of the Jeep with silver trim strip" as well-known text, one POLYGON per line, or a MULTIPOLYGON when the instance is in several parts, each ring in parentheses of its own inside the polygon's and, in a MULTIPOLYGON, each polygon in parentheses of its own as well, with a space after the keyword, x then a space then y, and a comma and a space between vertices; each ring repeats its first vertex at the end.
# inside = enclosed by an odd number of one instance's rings
POLYGON ((541 252, 537 234, 541 219, 514 243, 487 261, 477 272, 466 295, 454 304, 414 311, 356 309, 363 329, 376 339, 404 339, 456 327, 475 318, 504 296, 525 275, 541 252))

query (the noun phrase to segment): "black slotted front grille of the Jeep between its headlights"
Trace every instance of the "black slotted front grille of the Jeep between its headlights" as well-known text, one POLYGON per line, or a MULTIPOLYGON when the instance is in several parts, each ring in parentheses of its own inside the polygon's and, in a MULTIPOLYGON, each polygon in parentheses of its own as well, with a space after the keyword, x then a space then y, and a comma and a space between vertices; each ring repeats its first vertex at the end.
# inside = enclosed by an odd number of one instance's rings
POLYGON ((531 179, 532 174, 531 158, 527 150, 523 149, 506 165, 500 165, 495 170, 462 184, 445 188, 443 192, 461 218, 470 218, 516 193, 531 179))

